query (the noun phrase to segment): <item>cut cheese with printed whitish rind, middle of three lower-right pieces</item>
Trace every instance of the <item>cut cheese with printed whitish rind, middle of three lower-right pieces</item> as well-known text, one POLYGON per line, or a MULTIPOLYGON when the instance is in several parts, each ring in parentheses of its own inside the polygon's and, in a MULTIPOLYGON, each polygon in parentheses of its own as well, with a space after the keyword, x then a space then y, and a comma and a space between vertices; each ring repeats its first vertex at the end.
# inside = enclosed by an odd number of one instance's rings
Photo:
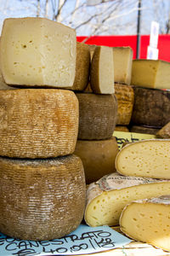
POLYGON ((168 194, 170 181, 124 177, 114 172, 88 186, 84 218, 90 226, 117 225, 128 203, 168 194))

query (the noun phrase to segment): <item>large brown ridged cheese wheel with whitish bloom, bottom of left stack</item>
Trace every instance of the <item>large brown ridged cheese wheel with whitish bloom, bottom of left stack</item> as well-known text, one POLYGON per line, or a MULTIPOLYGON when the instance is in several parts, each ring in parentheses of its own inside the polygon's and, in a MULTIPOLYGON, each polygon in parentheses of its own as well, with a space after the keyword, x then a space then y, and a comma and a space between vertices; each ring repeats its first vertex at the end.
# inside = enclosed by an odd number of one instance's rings
POLYGON ((0 231, 22 240, 51 240, 77 229, 86 185, 76 155, 48 160, 0 157, 0 231))

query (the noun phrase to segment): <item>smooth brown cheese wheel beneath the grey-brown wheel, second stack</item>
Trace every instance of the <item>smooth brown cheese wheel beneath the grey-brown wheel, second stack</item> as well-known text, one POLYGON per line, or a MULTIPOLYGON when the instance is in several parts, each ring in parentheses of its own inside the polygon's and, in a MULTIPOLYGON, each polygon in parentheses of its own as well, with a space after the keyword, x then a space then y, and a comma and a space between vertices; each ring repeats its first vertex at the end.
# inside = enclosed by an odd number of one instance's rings
POLYGON ((78 140, 74 154, 82 160, 86 183, 93 183, 105 174, 116 172, 118 151, 116 137, 101 141, 78 140))

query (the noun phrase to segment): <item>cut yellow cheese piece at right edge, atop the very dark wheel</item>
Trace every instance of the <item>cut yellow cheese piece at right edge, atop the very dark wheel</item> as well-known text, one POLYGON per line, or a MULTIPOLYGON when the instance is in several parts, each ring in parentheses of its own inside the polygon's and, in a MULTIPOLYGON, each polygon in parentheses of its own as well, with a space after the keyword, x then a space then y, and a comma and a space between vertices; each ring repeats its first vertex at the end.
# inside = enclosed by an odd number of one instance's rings
POLYGON ((131 84, 170 89, 170 63, 161 60, 133 60, 131 84))

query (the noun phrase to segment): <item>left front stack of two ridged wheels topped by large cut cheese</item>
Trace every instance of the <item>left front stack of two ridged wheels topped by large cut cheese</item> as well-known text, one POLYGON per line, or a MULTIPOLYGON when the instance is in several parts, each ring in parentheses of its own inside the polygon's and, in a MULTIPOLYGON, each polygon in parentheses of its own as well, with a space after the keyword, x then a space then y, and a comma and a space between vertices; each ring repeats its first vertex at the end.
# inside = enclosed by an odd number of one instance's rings
POLYGON ((88 84, 87 69, 75 79, 79 51, 86 52, 86 69, 88 48, 71 28, 42 18, 4 21, 3 79, 25 88, 0 91, 0 231, 8 236, 51 240, 82 221, 86 184, 73 154, 78 101, 62 90, 88 84))

